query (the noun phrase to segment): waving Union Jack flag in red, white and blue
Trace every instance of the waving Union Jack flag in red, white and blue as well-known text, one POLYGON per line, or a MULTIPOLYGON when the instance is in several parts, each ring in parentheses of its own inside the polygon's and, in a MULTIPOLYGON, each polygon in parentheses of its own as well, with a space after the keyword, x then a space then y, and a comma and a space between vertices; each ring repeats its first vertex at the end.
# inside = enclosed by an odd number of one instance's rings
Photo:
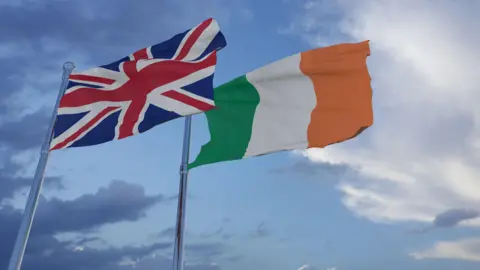
POLYGON ((214 19, 108 65, 72 73, 60 100, 51 150, 97 145, 214 108, 214 19))

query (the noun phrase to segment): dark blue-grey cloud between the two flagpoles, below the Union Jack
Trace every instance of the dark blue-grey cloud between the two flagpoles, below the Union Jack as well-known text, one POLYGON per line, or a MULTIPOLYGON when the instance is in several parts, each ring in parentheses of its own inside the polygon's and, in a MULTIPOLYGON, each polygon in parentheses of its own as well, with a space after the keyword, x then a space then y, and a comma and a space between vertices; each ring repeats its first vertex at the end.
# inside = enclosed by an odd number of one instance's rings
POLYGON ((113 181, 95 194, 82 195, 74 200, 42 200, 33 230, 49 234, 90 230, 119 221, 136 221, 145 217, 145 210, 162 198, 162 195, 145 195, 142 186, 113 181), (72 216, 72 213, 75 215, 72 216), (72 218, 59 218, 68 216, 72 218))

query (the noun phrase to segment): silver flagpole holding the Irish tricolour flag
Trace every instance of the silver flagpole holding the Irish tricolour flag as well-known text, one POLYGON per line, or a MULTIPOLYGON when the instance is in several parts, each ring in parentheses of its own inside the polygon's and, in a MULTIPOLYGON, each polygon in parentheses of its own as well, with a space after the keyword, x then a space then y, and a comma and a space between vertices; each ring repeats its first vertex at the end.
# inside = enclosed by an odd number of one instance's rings
POLYGON ((187 202, 188 159, 190 155, 190 130, 192 116, 185 117, 185 130, 183 134, 182 163, 180 165, 180 186, 178 191, 177 227, 175 230, 175 246, 173 251, 173 270, 183 270, 183 242, 185 230, 185 211, 187 202))

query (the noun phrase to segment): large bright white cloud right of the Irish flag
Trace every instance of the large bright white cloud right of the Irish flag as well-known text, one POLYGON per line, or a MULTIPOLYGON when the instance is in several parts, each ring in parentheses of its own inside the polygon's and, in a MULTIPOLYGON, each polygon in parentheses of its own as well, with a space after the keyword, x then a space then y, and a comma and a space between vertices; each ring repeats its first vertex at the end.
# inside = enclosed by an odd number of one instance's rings
MULTIPOLYGON (((323 3, 307 1, 290 27, 319 46, 325 35, 312 25, 323 20, 323 3)), ((356 168, 338 188, 350 210, 375 222, 480 209, 480 1, 339 0, 335 8, 330 27, 343 42, 371 40, 375 123, 355 140, 304 154, 356 168)))

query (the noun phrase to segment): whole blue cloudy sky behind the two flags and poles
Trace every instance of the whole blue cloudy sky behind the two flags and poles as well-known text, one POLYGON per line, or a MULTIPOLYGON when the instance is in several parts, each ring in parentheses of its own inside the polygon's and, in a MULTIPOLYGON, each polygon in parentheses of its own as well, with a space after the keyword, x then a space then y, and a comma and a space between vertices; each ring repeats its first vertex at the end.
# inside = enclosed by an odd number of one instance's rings
MULTIPOLYGON (((1 1, 0 269, 62 63, 106 64, 208 17, 228 42, 216 85, 371 40, 375 124, 326 149, 192 171, 187 269, 478 269, 478 14, 475 0, 1 1)), ((193 119, 192 156, 209 139, 193 119)), ((182 127, 54 152, 22 269, 170 269, 182 127)))

